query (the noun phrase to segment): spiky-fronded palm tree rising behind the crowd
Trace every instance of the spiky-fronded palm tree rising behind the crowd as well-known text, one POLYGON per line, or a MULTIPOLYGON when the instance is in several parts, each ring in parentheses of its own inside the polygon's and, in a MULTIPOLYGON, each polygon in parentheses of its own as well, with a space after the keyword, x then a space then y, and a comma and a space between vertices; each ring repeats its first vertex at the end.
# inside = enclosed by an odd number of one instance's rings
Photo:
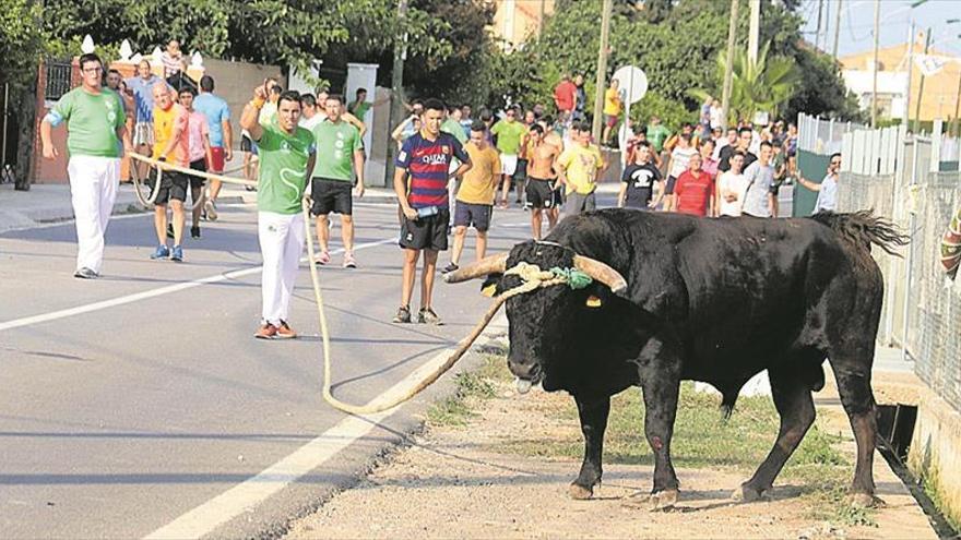
MULTIPOLYGON (((778 108, 791 99, 794 83, 800 74, 790 58, 768 58, 770 45, 770 41, 764 44, 757 62, 748 59, 747 51, 734 56, 728 116, 735 121, 749 120, 758 111, 767 111, 776 117, 778 108)), ((726 72, 727 58, 722 51, 717 55, 717 80, 723 81, 726 72)), ((692 89, 690 95, 703 100, 709 94, 703 89, 692 89)))

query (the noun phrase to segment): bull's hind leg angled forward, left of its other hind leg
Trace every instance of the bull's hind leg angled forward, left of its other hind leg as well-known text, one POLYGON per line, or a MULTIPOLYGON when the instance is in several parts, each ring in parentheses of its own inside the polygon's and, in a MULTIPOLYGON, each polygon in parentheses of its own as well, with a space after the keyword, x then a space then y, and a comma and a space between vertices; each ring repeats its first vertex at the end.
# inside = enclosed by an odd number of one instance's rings
POLYGON ((772 369, 768 373, 774 407, 781 416, 781 430, 755 476, 735 490, 734 499, 744 502, 757 501, 771 490, 774 479, 815 421, 815 404, 806 382, 794 371, 772 369))

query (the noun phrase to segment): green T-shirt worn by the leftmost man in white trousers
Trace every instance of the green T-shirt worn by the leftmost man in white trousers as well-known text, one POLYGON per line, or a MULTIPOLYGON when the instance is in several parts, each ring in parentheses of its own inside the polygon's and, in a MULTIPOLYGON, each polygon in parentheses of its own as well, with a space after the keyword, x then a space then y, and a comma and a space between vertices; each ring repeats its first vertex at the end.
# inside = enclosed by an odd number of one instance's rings
POLYGON ((50 112, 67 122, 67 151, 71 156, 120 157, 117 128, 127 122, 127 115, 115 92, 91 94, 82 86, 73 88, 50 112))

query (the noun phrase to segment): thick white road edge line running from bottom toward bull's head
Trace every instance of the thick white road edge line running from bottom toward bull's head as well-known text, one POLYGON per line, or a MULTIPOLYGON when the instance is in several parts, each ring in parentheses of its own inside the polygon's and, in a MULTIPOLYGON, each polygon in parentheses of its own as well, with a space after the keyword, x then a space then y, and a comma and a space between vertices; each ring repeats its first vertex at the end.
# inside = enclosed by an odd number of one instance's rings
MULTIPOLYGON (((482 334, 484 343, 489 343, 490 333, 502 329, 507 321, 500 315, 482 334)), ((385 393, 378 396, 375 403, 388 403, 406 393, 416 381, 422 380, 427 373, 432 372, 443 363, 447 356, 453 349, 438 352, 434 358, 425 362, 401 382, 391 386, 385 393)), ((182 539, 200 538, 209 535, 221 525, 252 511, 258 504, 278 493, 288 484, 317 469, 339 452, 352 445, 358 439, 367 435, 378 427, 378 422, 390 417, 401 406, 388 409, 377 415, 366 417, 347 417, 336 425, 323 432, 317 439, 294 451, 287 457, 268 467, 259 475, 245 480, 242 483, 230 488, 200 506, 187 512, 177 519, 151 532, 146 539, 182 539)))

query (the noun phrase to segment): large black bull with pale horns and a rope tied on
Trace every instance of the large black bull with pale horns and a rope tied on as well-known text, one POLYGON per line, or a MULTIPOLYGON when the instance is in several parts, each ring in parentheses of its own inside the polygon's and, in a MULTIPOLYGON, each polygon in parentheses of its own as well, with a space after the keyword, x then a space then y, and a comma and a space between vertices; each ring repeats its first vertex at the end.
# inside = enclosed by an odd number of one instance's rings
POLYGON ((507 302, 511 372, 577 401, 585 448, 572 496, 590 497, 601 482, 610 396, 641 387, 652 500, 666 507, 677 499, 671 439, 680 381, 712 384, 729 412, 744 383, 767 369, 781 429, 735 491, 746 501, 763 496, 815 420, 811 392, 823 387, 827 358, 857 442, 853 501, 871 504, 870 380, 883 284, 870 244, 890 252, 904 242, 869 213, 703 219, 605 209, 565 219, 547 241, 520 243, 447 279, 488 277, 503 292, 521 284, 505 268, 572 267, 577 254, 606 263, 620 286, 626 280, 618 293, 595 280, 507 302))

